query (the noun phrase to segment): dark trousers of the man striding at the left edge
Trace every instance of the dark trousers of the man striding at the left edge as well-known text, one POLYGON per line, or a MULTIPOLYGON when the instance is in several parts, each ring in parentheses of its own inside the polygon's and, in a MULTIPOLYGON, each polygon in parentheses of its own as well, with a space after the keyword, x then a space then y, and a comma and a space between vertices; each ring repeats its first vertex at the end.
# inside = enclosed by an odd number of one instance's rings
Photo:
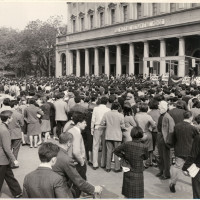
POLYGON ((22 193, 22 189, 18 181, 15 179, 13 171, 9 165, 0 165, 0 191, 4 180, 8 184, 13 197, 22 193))

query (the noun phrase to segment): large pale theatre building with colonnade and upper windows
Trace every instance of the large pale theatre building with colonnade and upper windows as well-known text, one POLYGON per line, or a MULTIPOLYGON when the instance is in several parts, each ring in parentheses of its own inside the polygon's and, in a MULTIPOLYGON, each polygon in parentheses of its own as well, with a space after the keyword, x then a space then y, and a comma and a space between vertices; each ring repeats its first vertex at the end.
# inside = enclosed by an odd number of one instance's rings
POLYGON ((56 77, 200 75, 199 3, 67 3, 56 77))

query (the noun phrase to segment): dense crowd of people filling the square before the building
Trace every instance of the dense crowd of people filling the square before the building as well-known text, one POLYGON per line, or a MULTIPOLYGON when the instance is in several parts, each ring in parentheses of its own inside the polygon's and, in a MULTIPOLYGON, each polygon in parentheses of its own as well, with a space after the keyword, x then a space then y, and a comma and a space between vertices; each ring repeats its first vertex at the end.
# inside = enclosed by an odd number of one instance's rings
POLYGON ((87 182, 90 166, 123 171, 122 194, 144 198, 143 171, 154 166, 172 193, 181 175, 191 176, 200 198, 200 87, 71 75, 2 78, 0 92, 0 190, 5 180, 13 197, 100 194, 102 186, 87 182), (41 161, 23 189, 12 171, 21 145, 39 147, 41 161))

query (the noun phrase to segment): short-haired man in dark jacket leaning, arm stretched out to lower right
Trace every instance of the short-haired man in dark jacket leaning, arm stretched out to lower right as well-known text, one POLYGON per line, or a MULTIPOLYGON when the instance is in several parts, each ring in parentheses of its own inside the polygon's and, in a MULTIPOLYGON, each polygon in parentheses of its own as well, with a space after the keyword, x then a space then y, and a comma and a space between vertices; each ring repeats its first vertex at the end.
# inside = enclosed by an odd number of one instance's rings
MULTIPOLYGON (((85 181, 76 170, 74 160, 68 155, 68 149, 71 147, 73 141, 73 135, 71 133, 62 133, 59 137, 60 151, 57 156, 56 164, 53 166, 53 170, 61 175, 64 182, 71 186, 76 186, 79 190, 88 193, 100 193, 102 187, 93 186, 85 181)), ((74 198, 79 198, 80 193, 77 194, 72 191, 74 198)))

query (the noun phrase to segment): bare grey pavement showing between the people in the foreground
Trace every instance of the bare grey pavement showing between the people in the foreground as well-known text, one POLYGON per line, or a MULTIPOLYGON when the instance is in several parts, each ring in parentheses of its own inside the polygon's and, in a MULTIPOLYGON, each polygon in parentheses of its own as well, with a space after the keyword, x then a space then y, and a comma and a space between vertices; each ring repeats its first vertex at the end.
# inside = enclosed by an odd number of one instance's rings
MULTIPOLYGON (((15 177, 18 179, 21 186, 23 185, 24 176, 36 169, 39 164, 37 151, 38 149, 30 149, 28 146, 21 147, 18 159, 20 168, 14 170, 15 177)), ((154 167, 149 168, 144 172, 145 198, 192 198, 190 178, 185 176, 181 177, 176 186, 177 192, 173 194, 169 191, 169 181, 159 180, 155 177, 156 173, 158 173, 158 169, 154 167)), ((123 195, 121 195, 123 173, 107 173, 101 168, 95 171, 88 166, 87 177, 90 183, 105 186, 101 198, 123 198, 123 195)), ((3 186, 2 193, 1 198, 9 198, 11 196, 6 184, 3 186)))

